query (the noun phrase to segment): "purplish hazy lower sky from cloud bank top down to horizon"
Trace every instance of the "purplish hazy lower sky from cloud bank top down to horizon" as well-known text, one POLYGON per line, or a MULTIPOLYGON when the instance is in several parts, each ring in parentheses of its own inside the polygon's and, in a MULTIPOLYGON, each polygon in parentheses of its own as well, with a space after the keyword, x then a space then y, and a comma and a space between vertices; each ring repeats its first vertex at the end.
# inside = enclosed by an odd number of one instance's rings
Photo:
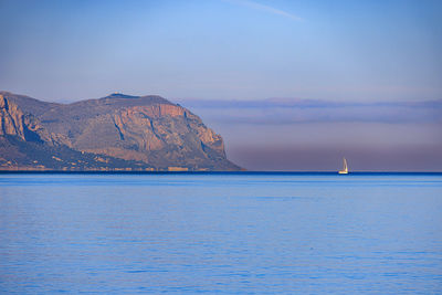
POLYGON ((202 101, 180 103, 223 135, 229 158, 251 170, 442 171, 442 99, 202 101))

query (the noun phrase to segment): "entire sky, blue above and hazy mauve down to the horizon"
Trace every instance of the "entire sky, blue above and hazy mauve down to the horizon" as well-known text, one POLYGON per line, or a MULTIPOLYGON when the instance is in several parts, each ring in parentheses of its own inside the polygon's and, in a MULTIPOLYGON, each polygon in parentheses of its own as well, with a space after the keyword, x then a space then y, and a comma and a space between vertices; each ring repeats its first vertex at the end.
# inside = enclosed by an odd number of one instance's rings
POLYGON ((442 170, 442 1, 0 0, 0 89, 180 103, 252 170, 442 170))

